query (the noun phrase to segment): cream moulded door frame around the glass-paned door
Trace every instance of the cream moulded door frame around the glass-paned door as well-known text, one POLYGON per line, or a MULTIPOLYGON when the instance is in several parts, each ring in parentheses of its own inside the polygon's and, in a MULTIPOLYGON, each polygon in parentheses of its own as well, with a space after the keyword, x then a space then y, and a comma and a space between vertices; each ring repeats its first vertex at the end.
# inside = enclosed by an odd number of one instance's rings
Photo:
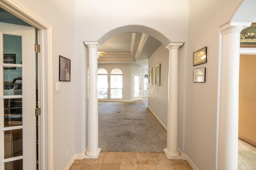
POLYGON ((52 87, 52 27, 16 0, 1 0, 0 7, 38 29, 41 107, 41 169, 53 169, 53 87, 52 87))

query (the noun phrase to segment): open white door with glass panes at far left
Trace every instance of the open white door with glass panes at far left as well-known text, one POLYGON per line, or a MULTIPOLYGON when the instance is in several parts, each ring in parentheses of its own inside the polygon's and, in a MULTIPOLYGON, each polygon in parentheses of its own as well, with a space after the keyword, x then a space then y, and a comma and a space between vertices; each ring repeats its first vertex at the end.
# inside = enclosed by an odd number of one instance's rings
POLYGON ((34 27, 0 23, 0 169, 36 170, 34 27))

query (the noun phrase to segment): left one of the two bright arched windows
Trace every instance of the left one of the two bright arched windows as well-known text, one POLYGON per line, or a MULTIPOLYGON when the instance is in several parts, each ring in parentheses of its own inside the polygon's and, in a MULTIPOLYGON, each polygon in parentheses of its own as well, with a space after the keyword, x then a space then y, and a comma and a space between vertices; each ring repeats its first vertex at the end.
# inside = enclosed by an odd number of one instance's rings
POLYGON ((98 99, 108 98, 108 71, 104 68, 98 69, 98 99))

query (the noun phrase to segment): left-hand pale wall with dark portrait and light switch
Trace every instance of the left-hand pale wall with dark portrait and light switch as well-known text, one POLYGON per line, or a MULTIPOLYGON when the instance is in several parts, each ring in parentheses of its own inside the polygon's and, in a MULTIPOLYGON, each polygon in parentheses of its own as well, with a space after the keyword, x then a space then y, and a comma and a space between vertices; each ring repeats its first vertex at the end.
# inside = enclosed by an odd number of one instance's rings
MULTIPOLYGON (((74 56, 74 2, 69 0, 18 0, 23 6, 52 26, 53 65, 53 162, 54 169, 64 169, 75 154, 75 56, 74 56), (71 60, 71 82, 59 81, 59 55, 71 60), (68 147, 68 154, 66 154, 68 147)), ((78 75, 79 76, 79 75, 78 75)), ((46 155, 47 157, 48 155, 46 155)))

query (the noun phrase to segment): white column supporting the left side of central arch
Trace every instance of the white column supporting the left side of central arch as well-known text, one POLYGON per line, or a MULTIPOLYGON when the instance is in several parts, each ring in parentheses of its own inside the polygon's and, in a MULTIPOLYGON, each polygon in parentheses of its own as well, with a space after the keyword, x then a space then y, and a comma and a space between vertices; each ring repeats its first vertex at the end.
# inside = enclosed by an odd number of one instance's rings
POLYGON ((97 42, 85 42, 89 54, 89 83, 88 83, 88 146, 85 158, 98 158, 98 48, 97 42))

